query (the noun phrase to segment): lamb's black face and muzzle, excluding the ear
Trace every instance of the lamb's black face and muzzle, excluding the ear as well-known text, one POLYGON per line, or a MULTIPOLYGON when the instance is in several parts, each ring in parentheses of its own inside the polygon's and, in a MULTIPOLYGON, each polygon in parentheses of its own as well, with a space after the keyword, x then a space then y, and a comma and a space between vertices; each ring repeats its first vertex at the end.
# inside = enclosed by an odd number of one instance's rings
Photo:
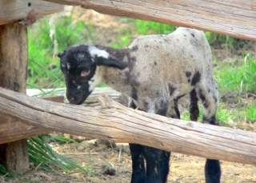
POLYGON ((66 80, 66 97, 71 104, 82 104, 90 95, 90 84, 96 64, 88 52, 88 46, 74 46, 58 54, 60 67, 66 80))

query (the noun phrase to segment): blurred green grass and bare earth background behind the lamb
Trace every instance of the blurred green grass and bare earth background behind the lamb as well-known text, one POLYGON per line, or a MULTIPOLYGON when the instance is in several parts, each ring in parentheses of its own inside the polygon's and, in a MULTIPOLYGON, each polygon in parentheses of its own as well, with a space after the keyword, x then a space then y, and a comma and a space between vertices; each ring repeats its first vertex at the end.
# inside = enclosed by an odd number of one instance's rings
MULTIPOLYGON (((129 46, 139 35, 170 34, 176 29, 176 26, 158 22, 118 18, 98 14, 93 10, 66 6, 64 13, 42 18, 28 29, 27 86, 34 89, 66 87, 56 55, 73 44, 88 42, 123 48, 129 46)), ((255 96, 255 42, 211 32, 205 34, 213 52, 214 77, 219 90, 224 93, 235 92, 237 100, 243 93, 255 96)), ((244 121, 245 118, 247 122, 256 121, 255 103, 251 102, 242 107, 243 112, 246 111, 246 117, 245 113, 240 113, 240 109, 225 109, 226 105, 222 103, 218 112, 222 125, 228 125, 229 120, 244 121)), ((189 120, 186 115, 183 116, 189 120)))

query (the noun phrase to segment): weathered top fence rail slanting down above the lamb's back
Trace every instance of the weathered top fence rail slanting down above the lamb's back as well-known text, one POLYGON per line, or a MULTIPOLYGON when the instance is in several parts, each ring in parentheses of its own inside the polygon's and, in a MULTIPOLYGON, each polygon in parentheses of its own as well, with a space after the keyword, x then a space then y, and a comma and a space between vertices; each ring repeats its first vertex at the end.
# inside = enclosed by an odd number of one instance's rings
POLYGON ((256 41, 256 0, 44 0, 256 41))

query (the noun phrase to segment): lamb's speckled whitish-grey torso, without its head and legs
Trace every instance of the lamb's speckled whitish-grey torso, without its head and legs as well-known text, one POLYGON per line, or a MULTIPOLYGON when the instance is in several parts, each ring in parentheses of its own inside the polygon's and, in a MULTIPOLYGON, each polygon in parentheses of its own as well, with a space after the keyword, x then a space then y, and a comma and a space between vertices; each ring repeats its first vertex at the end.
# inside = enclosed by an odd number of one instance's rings
POLYGON ((128 48, 122 50, 125 55, 116 50, 107 51, 126 62, 127 69, 98 70, 104 73, 103 83, 133 97, 140 109, 155 113, 156 109, 166 107, 166 101, 190 93, 195 86, 202 93, 210 93, 208 100, 217 101, 212 55, 202 31, 179 28, 173 34, 140 36, 128 48))

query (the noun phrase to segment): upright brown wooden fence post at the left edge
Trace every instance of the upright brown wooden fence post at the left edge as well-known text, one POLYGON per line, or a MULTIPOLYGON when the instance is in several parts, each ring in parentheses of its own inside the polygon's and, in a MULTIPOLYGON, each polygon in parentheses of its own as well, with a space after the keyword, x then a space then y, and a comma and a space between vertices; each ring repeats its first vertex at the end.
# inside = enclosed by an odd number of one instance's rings
MULTIPOLYGON (((0 26, 0 86, 26 93, 27 31, 16 24, 0 26)), ((6 123, 9 117, 0 119, 6 123)), ((16 173, 26 173, 29 157, 26 139, 0 145, 0 164, 16 173)))

